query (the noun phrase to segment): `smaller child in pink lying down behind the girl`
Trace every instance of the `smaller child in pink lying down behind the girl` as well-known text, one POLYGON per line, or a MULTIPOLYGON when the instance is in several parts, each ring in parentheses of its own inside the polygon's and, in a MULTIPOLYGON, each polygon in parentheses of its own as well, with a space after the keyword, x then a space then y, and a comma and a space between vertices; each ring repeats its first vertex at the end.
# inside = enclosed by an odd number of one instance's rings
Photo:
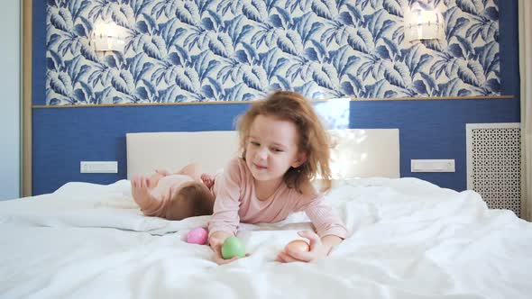
POLYGON ((169 220, 213 213, 214 178, 202 174, 197 164, 189 164, 175 173, 156 170, 151 177, 135 176, 132 195, 146 216, 169 220))

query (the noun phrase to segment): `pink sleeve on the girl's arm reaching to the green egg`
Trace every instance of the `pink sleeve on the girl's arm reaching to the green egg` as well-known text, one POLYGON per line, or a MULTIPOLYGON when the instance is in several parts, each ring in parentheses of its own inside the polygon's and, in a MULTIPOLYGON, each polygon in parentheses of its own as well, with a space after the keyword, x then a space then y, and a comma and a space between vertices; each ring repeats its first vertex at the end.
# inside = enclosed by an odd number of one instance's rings
POLYGON ((239 159, 232 159, 224 173, 216 177, 216 201, 213 216, 208 222, 209 236, 215 231, 225 231, 233 235, 236 233, 240 223, 238 210, 242 181, 239 159))

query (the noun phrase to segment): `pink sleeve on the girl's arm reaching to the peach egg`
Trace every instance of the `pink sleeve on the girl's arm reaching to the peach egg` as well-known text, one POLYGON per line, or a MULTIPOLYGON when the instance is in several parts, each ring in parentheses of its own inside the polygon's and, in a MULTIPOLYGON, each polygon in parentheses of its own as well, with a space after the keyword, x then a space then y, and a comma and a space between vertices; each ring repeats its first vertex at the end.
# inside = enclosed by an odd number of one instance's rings
POLYGON ((316 232, 320 237, 335 235, 342 239, 347 237, 347 228, 340 218, 333 212, 333 209, 324 203, 323 197, 307 204, 304 208, 308 218, 316 227, 316 232))

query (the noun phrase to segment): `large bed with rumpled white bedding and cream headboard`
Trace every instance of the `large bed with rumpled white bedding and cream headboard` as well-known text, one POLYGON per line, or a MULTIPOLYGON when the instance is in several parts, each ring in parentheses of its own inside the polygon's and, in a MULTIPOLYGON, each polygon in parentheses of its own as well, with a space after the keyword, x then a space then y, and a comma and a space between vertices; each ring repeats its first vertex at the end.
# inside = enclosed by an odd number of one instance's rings
MULTIPOLYGON (((142 216, 127 179, 71 182, 0 203, 0 298, 532 296, 532 224, 488 209, 475 192, 399 178, 398 130, 333 134, 335 187, 326 200, 352 235, 327 258, 274 261, 297 231, 311 229, 296 213, 243 224, 238 237, 251 256, 217 266, 208 247, 183 241, 208 216, 142 216)), ((223 168, 235 140, 231 131, 128 134, 128 177, 191 160, 223 168)))

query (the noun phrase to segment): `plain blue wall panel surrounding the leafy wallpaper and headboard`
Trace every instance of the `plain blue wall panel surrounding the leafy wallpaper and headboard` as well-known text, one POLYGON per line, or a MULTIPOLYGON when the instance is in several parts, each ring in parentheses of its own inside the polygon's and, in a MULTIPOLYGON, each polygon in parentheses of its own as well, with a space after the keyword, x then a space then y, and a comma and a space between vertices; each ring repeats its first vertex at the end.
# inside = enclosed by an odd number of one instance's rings
MULTIPOLYGON (((33 2, 33 104, 46 103, 46 4, 33 2)), ((352 102, 351 128, 399 128, 401 176, 465 188, 465 123, 519 122, 517 1, 500 1, 500 86, 511 100, 352 102), (455 173, 409 172, 410 159, 456 159, 455 173)), ((125 133, 230 130, 247 104, 33 109, 33 194, 69 181, 125 177, 125 133), (80 160, 117 160, 118 174, 80 174, 80 160)))

